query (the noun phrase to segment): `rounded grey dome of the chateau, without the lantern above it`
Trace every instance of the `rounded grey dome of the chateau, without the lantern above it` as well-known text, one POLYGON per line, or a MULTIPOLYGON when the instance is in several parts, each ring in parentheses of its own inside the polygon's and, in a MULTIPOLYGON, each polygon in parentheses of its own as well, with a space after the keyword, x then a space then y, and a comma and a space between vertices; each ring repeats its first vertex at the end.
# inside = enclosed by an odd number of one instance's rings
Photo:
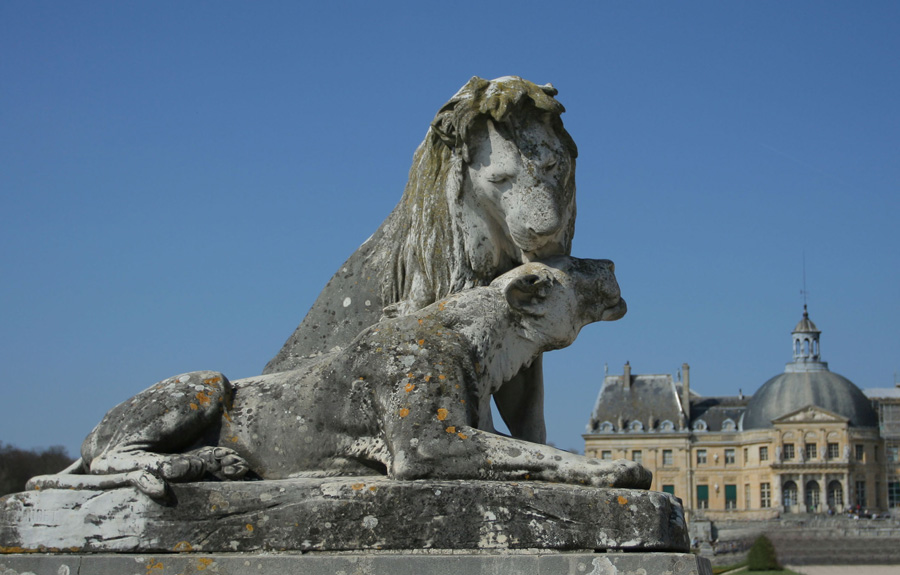
POLYGON ((853 427, 877 427, 878 416, 852 381, 827 369, 785 372, 763 384, 747 404, 744 429, 772 427, 772 420, 815 405, 842 415, 853 427))

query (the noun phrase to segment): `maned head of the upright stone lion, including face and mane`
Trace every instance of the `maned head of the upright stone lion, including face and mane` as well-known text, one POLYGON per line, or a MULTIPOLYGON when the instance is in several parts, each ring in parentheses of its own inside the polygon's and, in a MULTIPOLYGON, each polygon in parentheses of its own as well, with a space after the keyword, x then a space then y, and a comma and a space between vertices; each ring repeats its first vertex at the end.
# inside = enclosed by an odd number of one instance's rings
POLYGON ((438 111, 386 228, 382 291, 394 313, 570 252, 578 152, 556 94, 515 76, 475 77, 438 111))

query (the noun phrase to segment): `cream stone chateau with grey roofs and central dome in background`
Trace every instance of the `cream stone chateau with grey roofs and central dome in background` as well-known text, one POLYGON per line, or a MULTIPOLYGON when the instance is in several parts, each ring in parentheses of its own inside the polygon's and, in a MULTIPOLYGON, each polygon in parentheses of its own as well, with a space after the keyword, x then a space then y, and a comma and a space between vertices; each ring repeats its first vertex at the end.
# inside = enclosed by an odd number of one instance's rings
POLYGON ((820 333, 804 306, 792 361, 752 397, 698 395, 687 364, 676 379, 632 374, 626 363, 604 378, 585 454, 642 463, 651 489, 681 498, 692 518, 900 506, 900 393, 890 409, 873 407, 822 361, 820 333), (876 409, 898 416, 887 451, 876 409))

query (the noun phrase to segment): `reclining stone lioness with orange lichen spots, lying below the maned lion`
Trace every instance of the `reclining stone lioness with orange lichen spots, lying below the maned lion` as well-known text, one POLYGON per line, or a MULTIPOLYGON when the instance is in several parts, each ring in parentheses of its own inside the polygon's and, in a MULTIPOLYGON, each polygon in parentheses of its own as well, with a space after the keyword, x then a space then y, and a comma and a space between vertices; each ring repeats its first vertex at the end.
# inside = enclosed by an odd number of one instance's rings
MULTIPOLYGON (((346 349, 229 383, 170 378, 113 408, 82 446, 80 471, 32 486, 371 475, 534 479, 646 488, 640 465, 600 461, 492 433, 491 395, 584 325, 625 314, 612 262, 567 256, 384 320, 346 349)), ((71 470, 76 471, 76 470, 71 470)))

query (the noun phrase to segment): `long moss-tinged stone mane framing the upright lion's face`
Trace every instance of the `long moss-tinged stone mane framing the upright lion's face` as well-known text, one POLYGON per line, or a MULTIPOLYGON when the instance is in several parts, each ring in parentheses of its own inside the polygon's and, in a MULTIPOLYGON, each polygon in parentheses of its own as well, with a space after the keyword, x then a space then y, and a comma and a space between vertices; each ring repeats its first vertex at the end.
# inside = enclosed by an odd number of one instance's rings
MULTIPOLYGON (((402 309, 398 311, 413 311, 451 293, 487 285, 508 271, 477 269, 466 249, 473 239, 454 217, 451 202, 459 202, 463 192, 469 132, 477 122, 490 118, 515 139, 519 126, 546 115, 571 155, 574 173, 578 150, 563 127, 560 115, 565 108, 554 99, 557 93, 549 84, 538 86, 516 76, 492 81, 473 77, 438 111, 413 156, 403 197, 385 222, 393 231, 385 238, 390 250, 389 273, 382 285, 386 307, 399 303, 402 309)), ((574 178, 569 178, 567 185, 574 188, 574 178)), ((574 233, 573 213, 566 232, 566 253, 574 233)))

